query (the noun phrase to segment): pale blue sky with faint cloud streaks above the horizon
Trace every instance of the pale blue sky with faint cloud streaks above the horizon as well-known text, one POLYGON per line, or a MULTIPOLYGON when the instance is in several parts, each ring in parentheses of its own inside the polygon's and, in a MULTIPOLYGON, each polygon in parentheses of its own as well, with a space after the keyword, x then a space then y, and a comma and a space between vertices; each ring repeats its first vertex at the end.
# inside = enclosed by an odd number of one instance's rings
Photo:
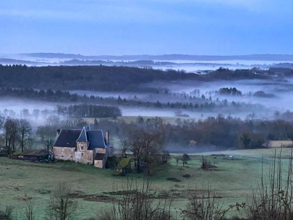
POLYGON ((293 54, 291 0, 0 0, 0 53, 293 54))

